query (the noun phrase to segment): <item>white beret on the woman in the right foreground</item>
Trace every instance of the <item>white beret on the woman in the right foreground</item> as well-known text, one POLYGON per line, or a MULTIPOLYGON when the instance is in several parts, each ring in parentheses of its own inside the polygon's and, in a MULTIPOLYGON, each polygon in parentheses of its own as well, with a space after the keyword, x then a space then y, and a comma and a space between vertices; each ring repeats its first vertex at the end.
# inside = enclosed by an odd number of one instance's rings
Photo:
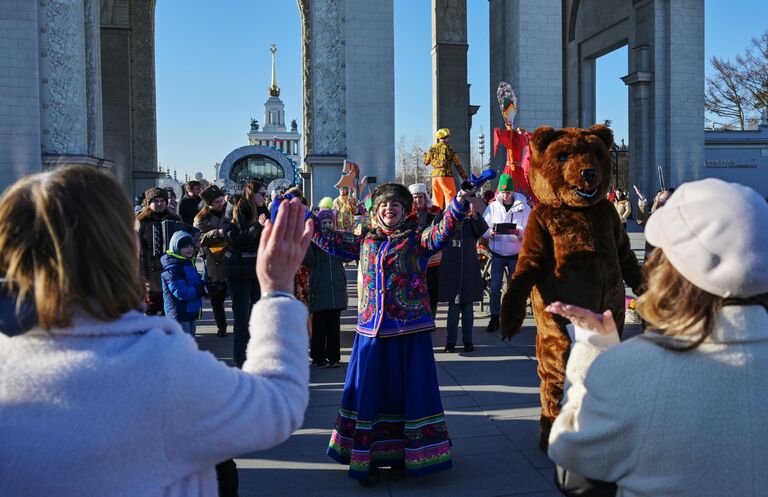
POLYGON ((685 183, 648 219, 645 237, 704 291, 768 293, 768 203, 749 187, 714 178, 685 183))

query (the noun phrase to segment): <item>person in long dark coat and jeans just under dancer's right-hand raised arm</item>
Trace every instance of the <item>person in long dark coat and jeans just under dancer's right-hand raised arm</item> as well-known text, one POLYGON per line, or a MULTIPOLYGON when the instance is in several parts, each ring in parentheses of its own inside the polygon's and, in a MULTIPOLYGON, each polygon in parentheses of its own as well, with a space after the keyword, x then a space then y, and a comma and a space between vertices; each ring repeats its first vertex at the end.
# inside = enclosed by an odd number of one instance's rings
MULTIPOLYGON (((441 262, 438 300, 448 302, 448 320, 446 324, 446 352, 453 352, 459 331, 461 315, 461 339, 464 352, 472 352, 472 328, 475 315, 474 302, 483 298, 483 283, 480 275, 480 262, 477 259, 477 240, 488 231, 488 224, 478 214, 475 200, 470 199, 469 214, 463 222, 461 236, 456 236, 451 244, 443 249, 441 262)), ((438 215, 440 217, 441 215, 438 215)), ((436 218, 436 222, 439 219, 436 218)))

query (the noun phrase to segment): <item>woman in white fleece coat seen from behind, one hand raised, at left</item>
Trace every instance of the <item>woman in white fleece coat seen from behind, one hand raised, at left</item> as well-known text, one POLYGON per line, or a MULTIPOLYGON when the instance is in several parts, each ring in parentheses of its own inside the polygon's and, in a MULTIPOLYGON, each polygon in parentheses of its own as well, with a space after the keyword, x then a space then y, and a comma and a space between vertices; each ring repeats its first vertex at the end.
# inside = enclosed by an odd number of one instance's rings
POLYGON ((303 212, 286 202, 262 235, 263 295, 240 371, 137 310, 133 214, 110 175, 67 167, 11 186, 0 201, 0 495, 215 496, 216 463, 287 439, 309 397, 307 309, 292 296, 312 235, 303 212))

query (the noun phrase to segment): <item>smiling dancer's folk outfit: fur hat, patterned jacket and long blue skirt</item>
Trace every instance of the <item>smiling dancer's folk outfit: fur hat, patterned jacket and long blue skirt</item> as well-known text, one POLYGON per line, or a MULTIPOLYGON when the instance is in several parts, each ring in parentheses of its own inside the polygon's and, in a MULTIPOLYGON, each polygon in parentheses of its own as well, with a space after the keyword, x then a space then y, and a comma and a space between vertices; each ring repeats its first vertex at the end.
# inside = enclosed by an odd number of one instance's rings
POLYGON ((382 202, 400 202, 403 221, 391 230, 378 222, 378 228, 361 236, 314 234, 317 246, 359 259, 361 266, 357 334, 327 450, 361 481, 377 475, 379 467, 416 476, 452 466, 425 271, 429 256, 460 230, 469 207, 454 200, 440 223, 420 228, 408 215, 412 199, 404 186, 383 184, 373 198, 373 212, 382 202))

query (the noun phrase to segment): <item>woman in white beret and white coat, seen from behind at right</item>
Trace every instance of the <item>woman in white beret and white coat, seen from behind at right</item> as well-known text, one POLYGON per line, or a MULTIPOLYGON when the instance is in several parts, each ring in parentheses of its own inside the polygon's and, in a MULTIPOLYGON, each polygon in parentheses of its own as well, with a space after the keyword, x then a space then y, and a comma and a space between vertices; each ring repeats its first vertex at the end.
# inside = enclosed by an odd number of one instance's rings
POLYGON ((767 225, 746 186, 683 184, 646 227, 645 334, 619 344, 610 311, 548 307, 575 325, 555 463, 623 497, 768 494, 767 225))

